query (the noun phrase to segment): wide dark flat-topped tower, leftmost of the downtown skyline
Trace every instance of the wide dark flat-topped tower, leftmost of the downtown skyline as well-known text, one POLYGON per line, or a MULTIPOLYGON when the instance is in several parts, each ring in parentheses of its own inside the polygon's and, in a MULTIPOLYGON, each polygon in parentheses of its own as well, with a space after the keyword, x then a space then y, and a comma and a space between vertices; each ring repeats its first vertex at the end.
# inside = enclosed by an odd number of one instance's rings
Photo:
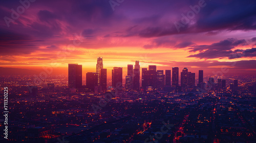
POLYGON ((69 64, 69 88, 82 87, 82 65, 69 64))

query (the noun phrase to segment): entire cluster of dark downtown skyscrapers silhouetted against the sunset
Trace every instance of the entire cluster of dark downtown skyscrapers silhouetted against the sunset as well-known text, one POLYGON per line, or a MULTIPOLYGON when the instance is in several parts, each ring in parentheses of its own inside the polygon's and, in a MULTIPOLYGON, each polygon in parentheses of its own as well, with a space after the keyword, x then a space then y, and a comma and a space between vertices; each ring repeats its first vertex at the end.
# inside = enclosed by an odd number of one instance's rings
MULTIPOLYGON (((96 72, 86 74, 86 88, 95 92, 107 90, 107 72, 103 68, 102 57, 98 57, 96 64, 96 72)), ((123 86, 123 70, 122 67, 113 67, 112 69, 112 87, 125 87, 125 90, 181 90, 193 91, 196 87, 205 89, 203 70, 199 70, 198 84, 195 86, 195 73, 191 73, 185 67, 181 71, 179 86, 179 67, 173 67, 172 70, 157 70, 156 65, 149 65, 142 68, 141 86, 140 86, 140 63, 135 61, 135 66, 127 65, 127 76, 125 76, 125 86, 123 86), (134 68, 133 68, 134 67, 134 68), (172 73, 172 76, 171 76, 172 73)), ((69 88, 82 88, 82 65, 69 64, 68 76, 69 88)), ((226 81, 218 79, 218 84, 214 83, 214 78, 209 78, 207 86, 225 89, 226 81)), ((237 87, 237 81, 234 81, 234 87, 237 87)))

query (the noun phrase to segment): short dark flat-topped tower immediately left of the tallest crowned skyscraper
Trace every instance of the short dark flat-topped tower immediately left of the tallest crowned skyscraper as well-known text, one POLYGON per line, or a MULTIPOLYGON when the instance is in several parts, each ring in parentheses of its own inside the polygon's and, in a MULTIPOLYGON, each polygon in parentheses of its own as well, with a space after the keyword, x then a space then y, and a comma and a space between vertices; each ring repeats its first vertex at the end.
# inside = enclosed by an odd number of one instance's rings
POLYGON ((86 74, 86 87, 94 92, 95 86, 98 86, 98 73, 90 72, 86 74))

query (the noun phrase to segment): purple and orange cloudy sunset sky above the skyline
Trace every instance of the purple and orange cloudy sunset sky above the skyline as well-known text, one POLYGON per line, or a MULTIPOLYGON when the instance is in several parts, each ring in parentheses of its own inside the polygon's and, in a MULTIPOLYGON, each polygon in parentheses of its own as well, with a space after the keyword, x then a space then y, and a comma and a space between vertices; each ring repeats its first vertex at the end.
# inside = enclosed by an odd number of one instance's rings
POLYGON ((87 72, 103 57, 104 68, 139 60, 158 69, 256 71, 255 0, 112 1, 27 1, 24 12, 17 0, 1 1, 0 66, 67 73, 78 63, 87 72))

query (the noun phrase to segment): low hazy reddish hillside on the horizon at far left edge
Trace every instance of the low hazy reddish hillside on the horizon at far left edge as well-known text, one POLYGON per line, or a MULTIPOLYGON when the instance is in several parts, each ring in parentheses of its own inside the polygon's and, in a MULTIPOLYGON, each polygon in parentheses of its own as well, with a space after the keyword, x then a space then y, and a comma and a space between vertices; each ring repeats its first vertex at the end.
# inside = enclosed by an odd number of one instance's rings
POLYGON ((34 75, 39 72, 36 70, 24 69, 24 68, 12 68, 12 67, 0 67, 0 76, 4 75, 34 75))

